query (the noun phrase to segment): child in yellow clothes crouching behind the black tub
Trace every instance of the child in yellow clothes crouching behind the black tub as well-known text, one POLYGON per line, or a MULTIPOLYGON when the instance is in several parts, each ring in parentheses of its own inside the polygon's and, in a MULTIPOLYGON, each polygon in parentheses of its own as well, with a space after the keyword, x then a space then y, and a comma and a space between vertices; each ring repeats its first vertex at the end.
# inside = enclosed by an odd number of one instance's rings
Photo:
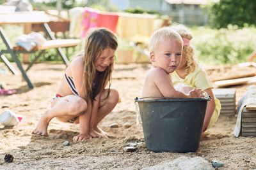
POLYGON ((206 131, 218 120, 221 109, 220 101, 212 93, 213 86, 209 76, 198 66, 194 58, 194 49, 189 44, 189 41, 193 38, 191 31, 184 25, 173 25, 170 28, 177 31, 183 39, 180 65, 171 73, 175 89, 180 89, 186 93, 193 88, 200 88, 212 97, 212 100, 208 101, 205 111, 203 131, 206 131))

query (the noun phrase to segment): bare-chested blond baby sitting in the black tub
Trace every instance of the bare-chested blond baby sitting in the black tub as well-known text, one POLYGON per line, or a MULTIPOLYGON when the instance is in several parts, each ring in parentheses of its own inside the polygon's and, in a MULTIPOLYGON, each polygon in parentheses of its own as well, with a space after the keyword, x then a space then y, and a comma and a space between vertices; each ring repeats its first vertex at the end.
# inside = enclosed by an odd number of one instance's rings
POLYGON ((152 34, 149 41, 152 67, 145 79, 143 97, 205 97, 205 92, 201 89, 191 89, 186 94, 173 87, 170 73, 180 64, 182 48, 181 36, 170 27, 163 27, 152 34))

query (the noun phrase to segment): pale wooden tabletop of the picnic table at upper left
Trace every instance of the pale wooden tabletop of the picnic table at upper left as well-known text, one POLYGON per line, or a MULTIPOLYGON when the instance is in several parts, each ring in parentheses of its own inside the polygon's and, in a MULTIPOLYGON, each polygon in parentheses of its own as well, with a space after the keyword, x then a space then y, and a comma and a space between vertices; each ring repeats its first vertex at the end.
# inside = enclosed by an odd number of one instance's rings
POLYGON ((0 13, 0 24, 40 24, 49 22, 44 11, 0 13))

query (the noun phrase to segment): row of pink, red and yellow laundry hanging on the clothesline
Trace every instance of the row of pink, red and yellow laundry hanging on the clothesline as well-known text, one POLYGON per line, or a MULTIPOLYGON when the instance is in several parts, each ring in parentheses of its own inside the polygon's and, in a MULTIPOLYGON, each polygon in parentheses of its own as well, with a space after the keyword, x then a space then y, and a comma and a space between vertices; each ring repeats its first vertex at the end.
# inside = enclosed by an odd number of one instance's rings
POLYGON ((154 32, 156 15, 102 12, 93 8, 72 8, 70 35, 84 38, 92 27, 106 27, 120 38, 129 41, 147 42, 154 32))

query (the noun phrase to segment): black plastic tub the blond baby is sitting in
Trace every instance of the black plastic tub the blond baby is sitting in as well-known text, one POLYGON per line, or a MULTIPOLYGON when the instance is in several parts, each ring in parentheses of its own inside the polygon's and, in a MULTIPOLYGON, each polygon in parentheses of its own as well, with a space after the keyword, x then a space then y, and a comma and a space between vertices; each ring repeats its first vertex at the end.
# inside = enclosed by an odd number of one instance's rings
POLYGON ((154 152, 196 152, 207 101, 204 98, 138 98, 145 143, 154 152))

